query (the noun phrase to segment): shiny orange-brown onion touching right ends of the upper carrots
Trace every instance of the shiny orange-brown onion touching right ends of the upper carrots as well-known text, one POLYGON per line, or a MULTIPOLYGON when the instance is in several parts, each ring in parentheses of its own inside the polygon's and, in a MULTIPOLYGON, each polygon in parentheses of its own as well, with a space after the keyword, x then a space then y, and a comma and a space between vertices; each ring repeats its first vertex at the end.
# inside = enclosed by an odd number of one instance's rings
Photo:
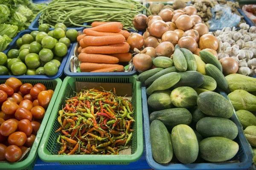
POLYGON ((131 50, 134 50, 134 48, 140 49, 144 45, 144 38, 142 35, 132 32, 127 39, 127 43, 130 45, 131 50))

